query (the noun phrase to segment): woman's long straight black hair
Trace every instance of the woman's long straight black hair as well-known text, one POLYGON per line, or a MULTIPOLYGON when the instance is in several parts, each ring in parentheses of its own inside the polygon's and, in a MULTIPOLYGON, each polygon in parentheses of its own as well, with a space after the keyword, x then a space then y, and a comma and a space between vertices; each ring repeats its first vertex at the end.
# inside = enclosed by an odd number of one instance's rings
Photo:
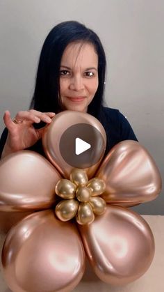
POLYGON ((31 108, 40 112, 55 113, 62 110, 59 87, 60 61, 67 45, 77 41, 91 43, 98 55, 99 86, 88 106, 88 114, 100 118, 104 103, 106 55, 97 34, 76 21, 61 22, 54 26, 45 39, 38 63, 31 108))

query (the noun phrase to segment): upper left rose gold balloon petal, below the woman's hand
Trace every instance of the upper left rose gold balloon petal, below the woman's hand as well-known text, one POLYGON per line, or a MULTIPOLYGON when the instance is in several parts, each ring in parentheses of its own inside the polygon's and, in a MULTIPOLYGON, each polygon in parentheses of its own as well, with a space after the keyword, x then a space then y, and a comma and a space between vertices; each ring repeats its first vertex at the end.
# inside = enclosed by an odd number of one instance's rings
POLYGON ((55 201, 61 176, 41 155, 19 151, 0 162, 0 210, 40 210, 55 201))

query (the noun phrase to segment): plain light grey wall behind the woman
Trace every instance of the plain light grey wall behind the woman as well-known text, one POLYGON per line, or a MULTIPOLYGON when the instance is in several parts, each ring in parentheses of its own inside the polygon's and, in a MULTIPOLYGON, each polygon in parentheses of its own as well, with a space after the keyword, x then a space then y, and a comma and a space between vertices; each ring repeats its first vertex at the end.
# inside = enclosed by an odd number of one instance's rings
MULTIPOLYGON (((129 119, 140 144, 164 176, 164 1, 1 0, 0 131, 3 112, 28 109, 38 57, 50 29, 78 20, 94 29, 106 50, 106 102, 129 119)), ((128 181, 127 181, 128 184, 128 181)), ((163 192, 136 208, 164 214, 163 192)))

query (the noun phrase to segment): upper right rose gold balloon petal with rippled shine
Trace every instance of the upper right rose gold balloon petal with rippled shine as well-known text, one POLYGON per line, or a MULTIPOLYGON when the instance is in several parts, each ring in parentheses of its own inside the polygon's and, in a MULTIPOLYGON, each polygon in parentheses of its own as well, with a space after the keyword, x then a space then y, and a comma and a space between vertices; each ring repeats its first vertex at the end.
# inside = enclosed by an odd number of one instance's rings
POLYGON ((101 197, 108 203, 133 206, 151 201, 161 192, 161 175, 156 164, 136 141, 115 145, 96 176, 106 182, 106 191, 101 197))

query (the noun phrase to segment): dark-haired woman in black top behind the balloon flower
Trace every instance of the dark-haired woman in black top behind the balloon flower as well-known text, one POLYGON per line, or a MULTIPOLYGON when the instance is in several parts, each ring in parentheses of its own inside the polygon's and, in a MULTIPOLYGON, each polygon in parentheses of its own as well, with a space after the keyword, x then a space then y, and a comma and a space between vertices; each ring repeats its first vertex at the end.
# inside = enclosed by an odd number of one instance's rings
POLYGON ((106 130, 106 153, 120 141, 137 141, 126 118, 104 107, 105 72, 104 48, 94 31, 75 21, 55 26, 42 47, 31 109, 18 112, 14 120, 8 111, 3 116, 1 157, 26 148, 44 155, 44 127, 65 109, 99 119, 106 130))

